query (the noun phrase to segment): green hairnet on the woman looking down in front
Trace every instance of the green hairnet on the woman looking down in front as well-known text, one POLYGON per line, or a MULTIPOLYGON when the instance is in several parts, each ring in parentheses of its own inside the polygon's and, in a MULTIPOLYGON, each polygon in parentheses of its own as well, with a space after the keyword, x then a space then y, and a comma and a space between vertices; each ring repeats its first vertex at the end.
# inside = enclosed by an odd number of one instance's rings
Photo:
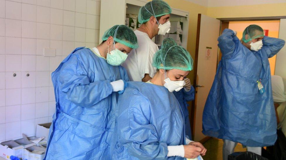
POLYGON ((164 39, 161 47, 154 55, 152 64, 154 67, 165 70, 193 70, 193 59, 190 53, 177 45, 172 38, 164 39))

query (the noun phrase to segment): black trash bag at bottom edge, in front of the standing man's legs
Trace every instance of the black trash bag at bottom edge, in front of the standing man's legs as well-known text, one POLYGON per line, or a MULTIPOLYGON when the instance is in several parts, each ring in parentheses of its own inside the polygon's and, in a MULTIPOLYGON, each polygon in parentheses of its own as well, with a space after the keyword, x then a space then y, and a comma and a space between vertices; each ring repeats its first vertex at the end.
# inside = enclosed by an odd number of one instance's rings
POLYGON ((234 152, 228 155, 228 160, 268 160, 258 154, 252 152, 234 152))

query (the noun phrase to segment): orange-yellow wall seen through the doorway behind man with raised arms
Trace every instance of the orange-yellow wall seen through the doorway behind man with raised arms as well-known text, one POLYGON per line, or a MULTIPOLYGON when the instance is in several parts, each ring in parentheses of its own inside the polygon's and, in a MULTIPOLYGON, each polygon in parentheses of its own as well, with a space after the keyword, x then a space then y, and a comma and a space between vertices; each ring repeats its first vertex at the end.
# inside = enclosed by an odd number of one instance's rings
MULTIPOLYGON (((251 24, 259 25, 263 29, 268 30, 268 36, 269 37, 278 38, 280 20, 229 22, 229 29, 236 31, 237 32, 236 36, 239 39, 241 39, 244 29, 251 24)), ((271 75, 274 75, 275 63, 276 63, 276 55, 273 56, 272 58, 269 58, 271 75)))

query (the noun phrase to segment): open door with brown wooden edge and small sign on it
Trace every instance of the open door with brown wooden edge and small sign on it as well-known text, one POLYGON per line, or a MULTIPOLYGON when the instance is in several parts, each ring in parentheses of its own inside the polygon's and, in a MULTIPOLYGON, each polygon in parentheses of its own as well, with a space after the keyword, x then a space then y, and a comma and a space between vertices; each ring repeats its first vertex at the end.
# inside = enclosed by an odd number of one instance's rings
POLYGON ((199 14, 196 46, 198 59, 197 67, 194 66, 195 69, 197 68, 197 78, 194 78, 196 80, 195 84, 197 84, 195 94, 194 141, 200 141, 206 137, 202 134, 202 112, 216 73, 219 29, 220 20, 199 14))

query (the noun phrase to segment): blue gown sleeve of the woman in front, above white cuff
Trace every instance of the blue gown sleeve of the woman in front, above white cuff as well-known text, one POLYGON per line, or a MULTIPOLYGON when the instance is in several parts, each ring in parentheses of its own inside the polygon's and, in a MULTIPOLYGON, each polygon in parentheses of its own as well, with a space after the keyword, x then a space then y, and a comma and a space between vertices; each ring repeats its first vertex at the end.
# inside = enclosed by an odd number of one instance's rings
POLYGON ((119 141, 130 155, 138 159, 167 159, 167 144, 159 142, 153 124, 150 124, 149 102, 132 95, 129 107, 118 117, 119 141))

